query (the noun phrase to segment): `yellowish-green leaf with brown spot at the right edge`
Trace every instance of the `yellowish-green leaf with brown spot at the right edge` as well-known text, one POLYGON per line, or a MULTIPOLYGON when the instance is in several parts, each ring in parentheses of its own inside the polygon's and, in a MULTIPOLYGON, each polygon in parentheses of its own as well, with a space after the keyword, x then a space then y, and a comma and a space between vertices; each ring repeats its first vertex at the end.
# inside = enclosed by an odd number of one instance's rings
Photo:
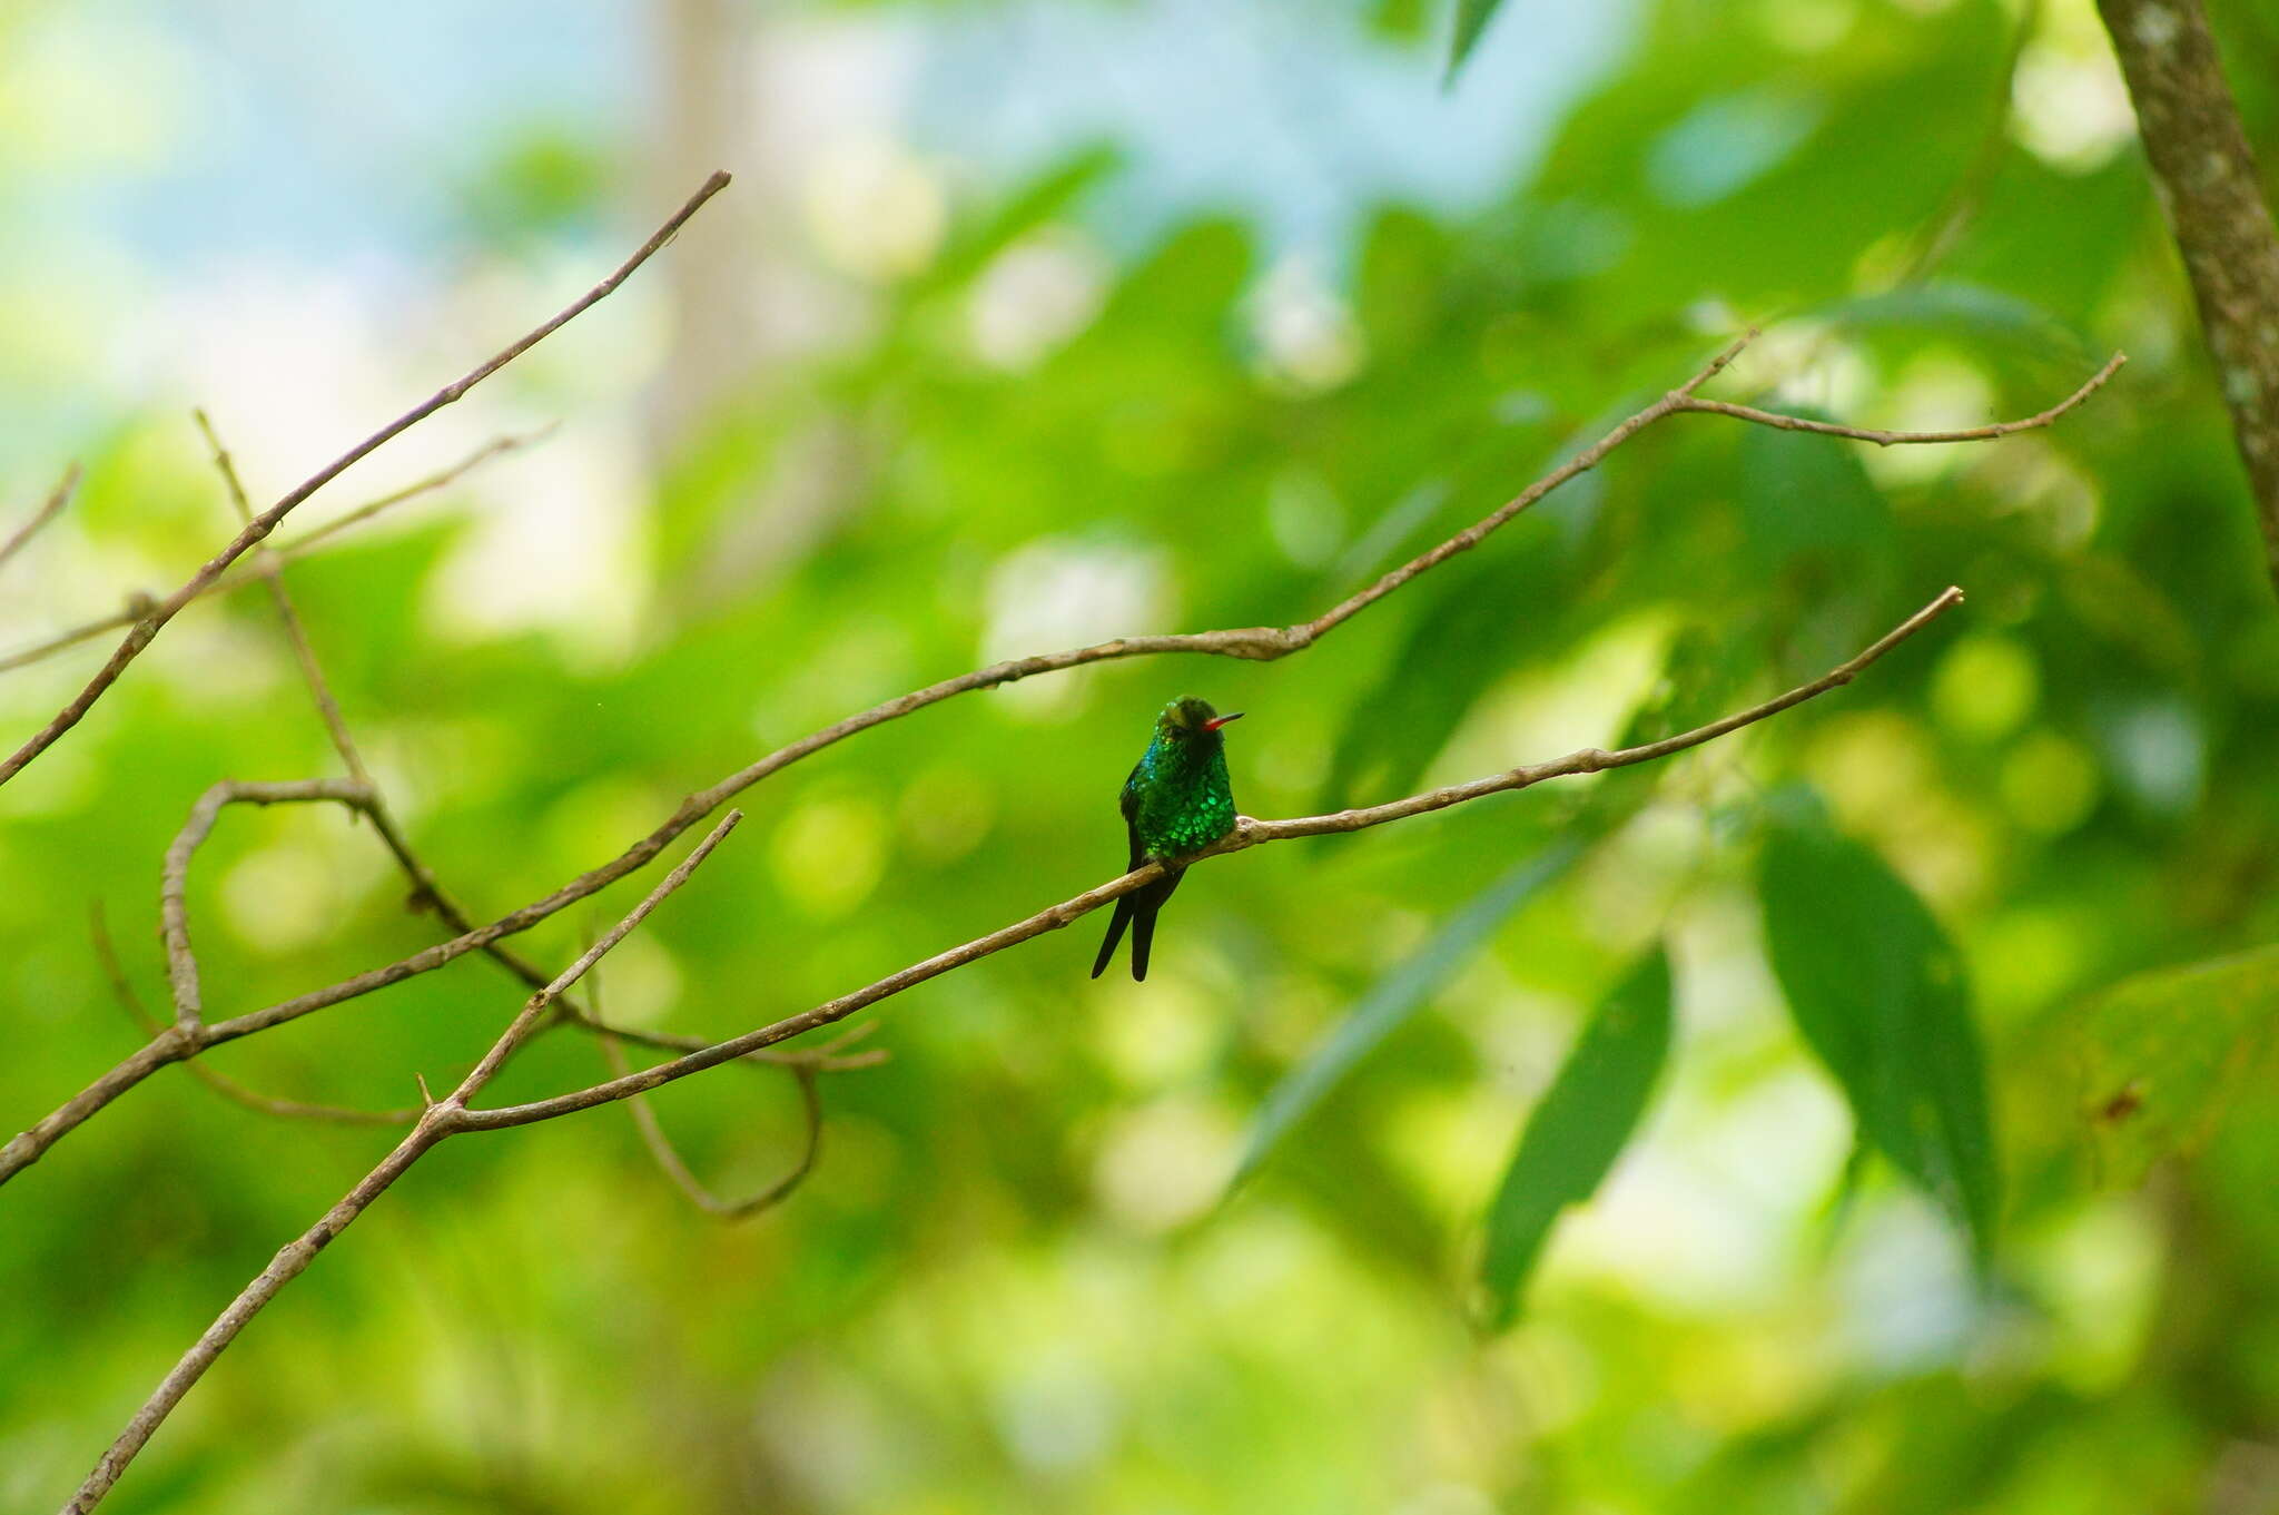
POLYGON ((2081 1107, 2099 1178, 2133 1185, 2188 1153, 2252 1089, 2279 1075, 2279 948, 2126 977, 2076 1030, 2081 1107))

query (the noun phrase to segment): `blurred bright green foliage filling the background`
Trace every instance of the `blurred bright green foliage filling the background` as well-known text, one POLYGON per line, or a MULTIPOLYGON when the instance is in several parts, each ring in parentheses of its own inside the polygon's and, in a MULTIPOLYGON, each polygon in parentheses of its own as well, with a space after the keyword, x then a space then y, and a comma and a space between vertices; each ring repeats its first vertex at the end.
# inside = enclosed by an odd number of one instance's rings
MULTIPOLYGON (((1436 89, 1415 7, 1358 9, 1436 89)), ((1522 46, 1520 21, 1481 46, 1522 46)), ((1304 813, 1698 724, 1969 590, 1855 686, 1673 763, 1199 868, 1144 986, 1089 984, 1078 934, 925 984, 882 1012, 891 1064, 827 1080, 820 1171, 754 1223, 681 1205, 622 1112, 454 1141, 244 1335, 109 1508, 2270 1508, 2279 617, 2138 153, 2067 137, 2074 96, 2035 107, 2003 77, 2015 23, 1980 0, 1648 5, 1506 200, 1383 205, 1338 321, 1297 346, 1260 319, 1274 269, 1235 207, 1108 264, 1087 319, 978 351, 1007 260, 1080 244, 1119 171, 1114 144, 1069 144, 1032 185, 953 196, 930 264, 859 292, 859 344, 729 392, 656 458, 624 636, 444 613, 524 460, 294 567, 397 806, 492 914, 937 677, 1313 615, 1743 324, 1769 335, 1721 392, 1878 426, 2031 415, 2131 353, 2090 408, 1994 447, 1677 417, 1304 656, 973 695, 766 781, 611 959, 615 1014, 729 1034, 1101 882, 1114 786, 1171 695, 1247 709, 1237 800, 1304 813), (814 474, 827 508, 793 531, 770 513, 814 474), (1782 786, 1819 795, 1825 832, 1782 829, 1782 786), (1568 836, 1582 857, 1511 898, 1568 836), (1479 950, 1433 959, 1465 920, 1479 950), (1543 1242, 1522 1321, 1481 1335, 1513 1150, 1506 1198, 1545 1198, 1520 1132, 1664 941, 1659 1087, 1543 1242), (1844 1000, 1880 982, 1857 955, 1898 966, 1878 1002, 1917 1016, 1905 1046, 1832 1050, 1885 1025, 1844 1000), (1418 991, 1222 1205, 1274 1091, 1402 973, 1418 991), (1855 1164, 1844 1089, 1880 1109, 1862 1068, 1928 1075, 1921 1037, 1983 1041, 1990 1128, 1967 1096, 1944 1135, 1896 1109, 1864 1130, 1889 1164, 1855 1164), (1937 1164, 1996 1237, 1983 1280, 1894 1176, 1937 1164)), ((2227 25, 2279 34, 2268 5, 2227 25)), ((2088 7, 2042 7, 2021 68, 2094 93, 2099 66, 2088 7)), ((2279 162, 2270 73, 2236 75, 2279 162)), ((595 226, 656 198, 579 123, 531 125, 497 144, 465 239, 602 267, 595 226)), ((499 392, 561 406, 590 351, 499 392)), ((567 433, 608 421, 572 410, 567 433)), ((171 412, 109 417, 87 465, 62 542, 157 583, 228 531, 171 412)), ((96 656, 0 679, 9 731, 96 656)), ((89 902, 157 1000, 157 861, 191 800, 330 770, 242 595, 187 613, 0 795, 0 1121, 134 1046, 89 902)), ((522 945, 567 961, 640 888, 522 945)), ((428 943, 401 895, 342 816, 228 816, 191 886, 212 1014, 428 943)), ((214 1066, 399 1105, 517 1002, 469 959, 214 1066)), ((599 1073, 552 1037, 497 1094, 599 1073)), ((722 1189, 773 1178, 800 1132, 766 1071, 659 1107, 722 1189)), ((1629 1125, 1627 1100, 1554 1109, 1593 1160, 1629 1125)), ((0 1506, 55 1504, 381 1150, 169 1073, 9 1185, 0 1506)))

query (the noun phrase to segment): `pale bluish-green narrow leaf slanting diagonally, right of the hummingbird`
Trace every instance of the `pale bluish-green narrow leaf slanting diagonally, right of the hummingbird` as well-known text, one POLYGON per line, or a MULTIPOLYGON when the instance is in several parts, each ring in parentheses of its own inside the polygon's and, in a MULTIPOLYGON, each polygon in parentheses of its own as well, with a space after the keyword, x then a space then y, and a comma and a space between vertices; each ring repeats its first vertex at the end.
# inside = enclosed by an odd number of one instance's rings
POLYGON ((1527 861, 1509 868, 1488 884, 1470 904, 1447 920, 1431 941, 1404 959, 1397 968, 1377 980, 1361 1005, 1354 1007, 1338 1027, 1322 1039, 1306 1059, 1283 1075, 1258 1107, 1251 1123, 1251 1139, 1242 1150, 1242 1162, 1228 1180, 1228 1191, 1258 1171, 1274 1146, 1313 1114, 1331 1089, 1335 1089, 1354 1066, 1374 1053, 1386 1037, 1399 1030, 1456 968, 1479 952, 1495 930, 1511 918, 1527 900, 1552 884, 1582 852, 1579 838, 1561 838, 1527 861))

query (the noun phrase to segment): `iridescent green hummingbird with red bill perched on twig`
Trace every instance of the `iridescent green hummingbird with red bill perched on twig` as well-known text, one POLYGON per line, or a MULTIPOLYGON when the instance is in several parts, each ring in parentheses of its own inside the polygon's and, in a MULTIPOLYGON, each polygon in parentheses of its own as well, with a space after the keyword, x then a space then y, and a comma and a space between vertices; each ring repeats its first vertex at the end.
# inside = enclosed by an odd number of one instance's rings
POLYGON ((1219 734, 1231 720, 1242 720, 1242 711, 1219 715, 1194 695, 1174 699, 1155 718, 1155 738, 1124 779, 1124 827, 1130 834, 1130 861, 1124 870, 1146 861, 1160 861, 1165 870, 1153 884, 1117 900, 1092 977, 1108 973, 1108 959, 1117 955, 1124 927, 1130 927, 1133 980, 1146 980, 1155 911, 1185 873, 1176 859, 1192 857, 1235 829, 1235 791, 1226 781, 1226 738, 1219 734))

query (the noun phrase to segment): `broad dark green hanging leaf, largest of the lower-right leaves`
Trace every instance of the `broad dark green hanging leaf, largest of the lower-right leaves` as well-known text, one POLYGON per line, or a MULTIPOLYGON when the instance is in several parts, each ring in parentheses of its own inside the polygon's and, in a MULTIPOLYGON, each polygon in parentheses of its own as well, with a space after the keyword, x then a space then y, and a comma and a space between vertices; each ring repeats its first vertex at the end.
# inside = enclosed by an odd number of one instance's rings
POLYGON ((1778 816, 1757 891, 1796 1030, 1860 1135, 1992 1258, 2001 1207, 1985 1057, 1953 943, 1871 847, 1819 813, 1778 816))

